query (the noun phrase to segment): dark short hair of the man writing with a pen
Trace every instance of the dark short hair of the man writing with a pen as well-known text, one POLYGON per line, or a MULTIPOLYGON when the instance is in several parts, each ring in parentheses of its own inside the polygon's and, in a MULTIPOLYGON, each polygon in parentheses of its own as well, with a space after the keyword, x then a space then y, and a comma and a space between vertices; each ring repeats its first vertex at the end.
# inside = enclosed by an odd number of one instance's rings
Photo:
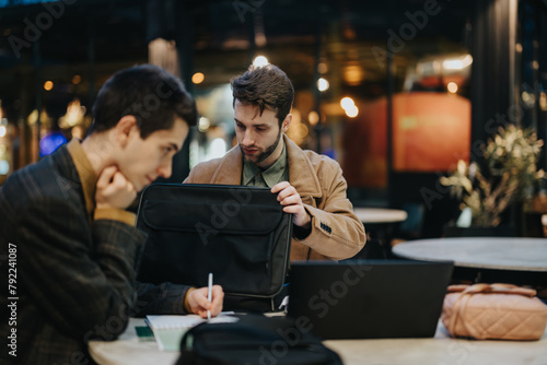
POLYGON ((90 133, 114 128, 119 119, 135 116, 140 136, 171 129, 175 116, 188 126, 197 123, 196 103, 181 80, 153 64, 116 72, 98 91, 90 133))

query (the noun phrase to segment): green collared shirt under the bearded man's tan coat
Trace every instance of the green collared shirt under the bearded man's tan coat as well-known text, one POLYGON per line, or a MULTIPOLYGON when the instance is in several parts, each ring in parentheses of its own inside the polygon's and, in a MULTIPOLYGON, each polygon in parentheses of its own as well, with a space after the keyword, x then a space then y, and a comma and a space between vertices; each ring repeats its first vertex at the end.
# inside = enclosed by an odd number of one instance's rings
POLYGON ((281 156, 265 170, 243 157, 243 185, 271 189, 276 184, 281 181, 289 181, 287 145, 283 146, 281 156))

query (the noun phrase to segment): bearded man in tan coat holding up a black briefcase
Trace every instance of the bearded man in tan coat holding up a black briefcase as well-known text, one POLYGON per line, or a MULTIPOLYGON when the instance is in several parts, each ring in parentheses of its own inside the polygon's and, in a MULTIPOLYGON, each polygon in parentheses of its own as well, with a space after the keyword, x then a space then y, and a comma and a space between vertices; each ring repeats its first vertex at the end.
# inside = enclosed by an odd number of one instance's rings
POLYGON ((341 260, 365 243, 364 227, 346 196, 338 163, 303 151, 284 132, 294 90, 272 64, 232 80, 238 144, 224 157, 198 164, 185 182, 269 187, 293 214, 292 260, 341 260))

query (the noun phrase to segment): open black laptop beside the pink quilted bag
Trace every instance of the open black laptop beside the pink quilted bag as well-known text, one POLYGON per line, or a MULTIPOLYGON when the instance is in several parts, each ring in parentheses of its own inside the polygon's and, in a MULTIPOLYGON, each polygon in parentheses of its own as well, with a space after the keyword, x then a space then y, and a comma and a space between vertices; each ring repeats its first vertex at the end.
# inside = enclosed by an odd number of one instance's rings
POLYGON ((453 262, 291 263, 288 315, 328 339, 433 337, 453 262))

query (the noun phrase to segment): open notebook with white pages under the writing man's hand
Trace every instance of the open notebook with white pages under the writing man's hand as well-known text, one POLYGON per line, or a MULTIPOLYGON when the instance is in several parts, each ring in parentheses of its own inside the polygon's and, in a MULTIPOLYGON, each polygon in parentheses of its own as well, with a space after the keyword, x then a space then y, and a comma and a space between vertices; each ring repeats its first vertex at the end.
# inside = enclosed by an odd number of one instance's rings
MULTIPOLYGON (((237 317, 220 315, 208 320, 210 323, 235 322, 237 317)), ((183 335, 194 326, 207 321, 197 315, 186 316, 147 316, 147 322, 154 333, 161 351, 179 351, 183 335)))

